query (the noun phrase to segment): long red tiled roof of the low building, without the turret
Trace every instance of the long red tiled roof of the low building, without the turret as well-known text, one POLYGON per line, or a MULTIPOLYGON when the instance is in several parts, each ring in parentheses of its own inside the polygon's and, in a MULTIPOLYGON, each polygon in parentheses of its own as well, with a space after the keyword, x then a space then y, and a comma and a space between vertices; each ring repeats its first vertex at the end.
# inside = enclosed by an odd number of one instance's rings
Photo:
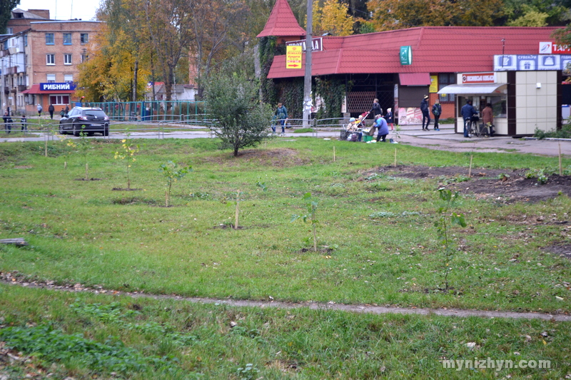
MULTIPOLYGON (((423 26, 347 37, 323 37, 323 51, 312 54, 312 75, 343 73, 462 73, 493 71, 493 56, 537 54, 555 27, 423 26), (505 48, 502 49, 502 38, 505 48), (412 46, 413 63, 399 61, 400 46, 412 46)), ((268 78, 305 73, 286 69, 285 56, 273 59, 268 78)))

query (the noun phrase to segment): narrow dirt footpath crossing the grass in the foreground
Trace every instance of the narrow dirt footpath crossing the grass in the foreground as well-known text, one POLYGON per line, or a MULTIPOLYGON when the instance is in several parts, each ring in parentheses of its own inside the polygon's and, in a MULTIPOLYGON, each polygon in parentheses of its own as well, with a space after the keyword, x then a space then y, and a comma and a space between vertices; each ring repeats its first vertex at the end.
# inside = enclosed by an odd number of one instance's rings
POLYGON ((63 292, 89 292, 93 294, 109 294, 113 296, 123 296, 132 298, 150 298, 150 299, 176 299, 186 302, 202 303, 202 304, 221 304, 231 307, 278 307, 281 309, 298 309, 301 307, 308 307, 312 310, 339 310, 343 312, 354 313, 370 313, 370 314, 416 314, 416 315, 438 315, 443 317, 482 317, 482 318, 511 318, 511 319, 544 319, 556 322, 571 322, 570 314, 545 314, 539 312, 499 312, 489 310, 465 310, 465 309, 417 309, 405 308, 395 306, 374 306, 370 304, 336 304, 335 302, 328 302, 326 304, 318 302, 278 302, 273 300, 252 301, 248 299, 215 299, 215 298, 197 298, 197 297, 181 297, 171 294, 147 294, 143 292, 119 292, 116 290, 106 289, 91 289, 83 287, 81 284, 75 285, 55 285, 49 282, 40 284, 38 282, 23 282, 19 281, 16 277, 12 279, 6 278, 4 273, 1 276, 0 283, 11 284, 21 287, 30 287, 35 289, 50 289, 59 290, 63 292))

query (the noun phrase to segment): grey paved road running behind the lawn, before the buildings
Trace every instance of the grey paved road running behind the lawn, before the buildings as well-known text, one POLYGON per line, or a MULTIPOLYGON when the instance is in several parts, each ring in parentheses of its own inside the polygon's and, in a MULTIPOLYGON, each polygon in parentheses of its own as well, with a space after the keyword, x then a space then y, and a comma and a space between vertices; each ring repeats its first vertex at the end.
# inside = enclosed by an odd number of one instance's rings
MULTIPOLYGON (((398 143, 420 146, 423 148, 435 150, 449 150, 453 152, 496 152, 496 153, 530 153, 535 155, 557 156, 561 150, 561 154, 571 157, 571 139, 567 140, 527 140, 521 138, 511 138, 505 136, 497 136, 493 138, 464 138, 461 133, 454 133, 454 125, 440 125, 440 131, 430 130, 423 131, 420 125, 404 125, 401 126, 400 132, 397 134, 390 133, 387 138, 393 138, 398 143)), ((193 130, 173 130, 172 132, 158 133, 151 132, 131 132, 131 138, 212 138, 208 128, 193 128, 193 130)), ((44 141, 46 135, 41 133, 35 137, 26 138, 9 138, 4 137, 4 133, 0 132, 0 143, 16 143, 21 141, 44 141)), ((292 130, 286 130, 285 135, 278 135, 278 138, 295 138, 300 136, 308 136, 315 138, 330 138, 337 140, 339 130, 331 128, 330 130, 320 131, 318 133, 294 133, 292 130)), ((116 133, 111 131, 108 138, 122 139, 125 133, 116 133)), ((75 138, 72 135, 66 135, 66 138, 75 138)), ((96 135, 91 138, 102 138, 96 135)), ((57 136, 49 136, 50 140, 58 140, 57 136)), ((344 142, 350 144, 350 142, 344 142)))

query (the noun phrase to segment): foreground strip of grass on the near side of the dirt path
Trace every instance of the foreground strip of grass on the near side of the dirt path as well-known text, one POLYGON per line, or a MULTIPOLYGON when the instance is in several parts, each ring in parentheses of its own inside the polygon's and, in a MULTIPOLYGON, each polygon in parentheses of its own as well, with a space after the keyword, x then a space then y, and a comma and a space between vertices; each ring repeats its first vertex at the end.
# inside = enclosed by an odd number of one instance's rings
POLYGON ((540 320, 256 309, 7 285, 0 285, 0 318, 4 348, 30 359, 0 362, 0 374, 11 379, 42 369, 56 379, 108 379, 111 371, 126 379, 563 379, 571 373, 571 324, 540 320), (457 370, 441 362, 488 357, 548 360, 550 369, 457 370))

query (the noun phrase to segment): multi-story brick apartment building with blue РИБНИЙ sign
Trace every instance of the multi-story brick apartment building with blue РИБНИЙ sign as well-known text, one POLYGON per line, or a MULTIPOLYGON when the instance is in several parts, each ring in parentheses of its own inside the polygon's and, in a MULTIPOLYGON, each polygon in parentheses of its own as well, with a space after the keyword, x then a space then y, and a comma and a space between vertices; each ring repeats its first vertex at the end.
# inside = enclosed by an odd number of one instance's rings
POLYGON ((78 65, 86 59, 99 25, 100 21, 34 19, 29 28, 0 36, 2 108, 27 114, 37 113, 38 104, 44 113, 50 105, 56 113, 72 108, 78 65))

